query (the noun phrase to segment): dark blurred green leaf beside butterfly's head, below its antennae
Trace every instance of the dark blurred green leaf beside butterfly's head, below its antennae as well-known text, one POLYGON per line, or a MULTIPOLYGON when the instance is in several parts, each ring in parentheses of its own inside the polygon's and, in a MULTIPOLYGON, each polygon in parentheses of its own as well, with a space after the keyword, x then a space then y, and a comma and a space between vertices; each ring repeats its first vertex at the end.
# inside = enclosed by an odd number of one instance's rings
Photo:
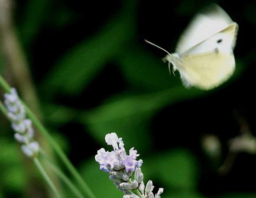
POLYGON ((167 64, 138 45, 127 47, 117 61, 126 81, 136 89, 159 91, 181 85, 178 74, 170 76, 167 64))

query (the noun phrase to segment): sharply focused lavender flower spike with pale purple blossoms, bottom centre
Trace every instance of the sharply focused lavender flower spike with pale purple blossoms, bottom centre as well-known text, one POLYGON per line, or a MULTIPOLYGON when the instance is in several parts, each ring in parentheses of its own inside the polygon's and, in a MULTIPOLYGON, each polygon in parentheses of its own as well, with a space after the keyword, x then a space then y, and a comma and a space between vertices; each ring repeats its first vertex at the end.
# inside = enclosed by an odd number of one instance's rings
POLYGON ((141 166, 143 160, 136 160, 139 154, 131 148, 126 154, 122 138, 116 133, 108 133, 105 136, 107 145, 112 145, 113 151, 98 150, 95 160, 100 164, 100 170, 109 173, 109 179, 113 181, 117 189, 123 192, 123 198, 161 198, 163 189, 154 195, 153 183, 149 180, 146 187, 143 182, 141 166), (134 174, 133 174, 134 173, 134 174))

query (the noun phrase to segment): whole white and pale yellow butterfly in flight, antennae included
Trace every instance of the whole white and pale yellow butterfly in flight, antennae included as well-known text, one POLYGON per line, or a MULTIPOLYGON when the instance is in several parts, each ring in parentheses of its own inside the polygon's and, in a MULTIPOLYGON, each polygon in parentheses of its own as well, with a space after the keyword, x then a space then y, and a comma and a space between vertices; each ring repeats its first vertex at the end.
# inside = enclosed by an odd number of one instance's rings
POLYGON ((227 81, 235 70, 233 48, 236 44, 238 25, 227 13, 214 4, 204 13, 198 13, 181 35, 175 53, 152 44, 168 53, 169 72, 178 70, 186 87, 204 90, 227 81))

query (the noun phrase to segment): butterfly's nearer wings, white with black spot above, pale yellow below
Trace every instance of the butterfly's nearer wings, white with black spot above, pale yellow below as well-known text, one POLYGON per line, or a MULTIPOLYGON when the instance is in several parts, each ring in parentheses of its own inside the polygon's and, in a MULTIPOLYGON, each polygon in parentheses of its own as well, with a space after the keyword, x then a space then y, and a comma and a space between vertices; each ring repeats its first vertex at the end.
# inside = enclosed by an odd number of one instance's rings
POLYGON ((233 22, 182 54, 178 70, 185 86, 209 90, 230 78, 235 69, 233 46, 237 30, 233 22))

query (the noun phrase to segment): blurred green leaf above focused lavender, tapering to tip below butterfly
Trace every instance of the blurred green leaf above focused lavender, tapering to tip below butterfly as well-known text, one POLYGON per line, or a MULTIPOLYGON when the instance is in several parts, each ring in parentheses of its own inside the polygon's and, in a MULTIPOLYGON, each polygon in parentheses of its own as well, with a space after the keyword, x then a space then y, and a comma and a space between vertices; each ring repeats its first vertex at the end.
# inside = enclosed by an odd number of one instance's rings
POLYGON ((126 144, 135 146, 139 152, 151 144, 149 123, 152 116, 167 105, 175 104, 203 94, 197 89, 186 89, 182 85, 175 88, 123 97, 122 94, 106 101, 100 107, 80 115, 91 135, 104 144, 107 132, 117 132, 126 144), (147 141, 141 141, 147 137, 147 141))

